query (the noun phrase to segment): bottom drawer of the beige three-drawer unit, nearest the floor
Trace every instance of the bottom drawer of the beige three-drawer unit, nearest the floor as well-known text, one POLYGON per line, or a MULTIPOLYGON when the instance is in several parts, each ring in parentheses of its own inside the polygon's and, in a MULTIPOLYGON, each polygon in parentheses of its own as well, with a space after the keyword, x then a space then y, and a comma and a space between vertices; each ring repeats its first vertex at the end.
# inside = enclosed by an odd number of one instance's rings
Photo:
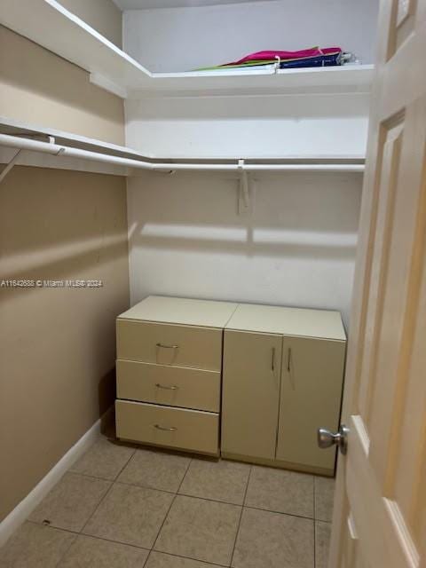
POLYGON ((218 453, 218 414, 116 400, 115 421, 117 438, 218 453))

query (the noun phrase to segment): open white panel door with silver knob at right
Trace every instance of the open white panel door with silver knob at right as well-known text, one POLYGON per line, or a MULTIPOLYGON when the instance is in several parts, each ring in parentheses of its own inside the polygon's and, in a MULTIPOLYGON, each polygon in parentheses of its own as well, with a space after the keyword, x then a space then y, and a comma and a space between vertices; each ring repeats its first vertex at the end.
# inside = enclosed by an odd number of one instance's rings
POLYGON ((426 1, 379 36, 329 568, 426 566, 426 1))

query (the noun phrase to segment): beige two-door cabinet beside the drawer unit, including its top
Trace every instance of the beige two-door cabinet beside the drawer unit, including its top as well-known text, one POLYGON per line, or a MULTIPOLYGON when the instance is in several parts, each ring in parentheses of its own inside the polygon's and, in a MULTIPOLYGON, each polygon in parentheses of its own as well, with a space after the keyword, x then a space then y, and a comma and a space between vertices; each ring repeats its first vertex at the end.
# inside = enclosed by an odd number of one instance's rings
POLYGON ((225 327, 224 457, 333 475, 346 336, 338 312, 239 304, 225 327))

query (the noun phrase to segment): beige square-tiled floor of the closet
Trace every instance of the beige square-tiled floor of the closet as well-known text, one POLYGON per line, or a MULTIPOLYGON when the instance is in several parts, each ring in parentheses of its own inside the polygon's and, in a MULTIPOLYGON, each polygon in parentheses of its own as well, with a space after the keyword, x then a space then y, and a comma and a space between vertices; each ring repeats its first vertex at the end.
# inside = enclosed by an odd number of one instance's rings
POLYGON ((326 568, 334 481, 99 440, 0 568, 326 568))

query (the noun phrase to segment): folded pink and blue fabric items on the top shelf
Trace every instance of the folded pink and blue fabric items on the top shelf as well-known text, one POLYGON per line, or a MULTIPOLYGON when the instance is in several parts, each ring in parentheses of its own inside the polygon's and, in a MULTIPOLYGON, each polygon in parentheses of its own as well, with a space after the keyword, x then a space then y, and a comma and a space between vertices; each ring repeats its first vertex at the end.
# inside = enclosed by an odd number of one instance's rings
POLYGON ((300 51, 256 51, 231 63, 216 67, 204 67, 199 71, 245 67, 266 67, 279 64, 281 69, 294 67, 325 67, 343 64, 343 51, 340 47, 312 47, 300 51))

